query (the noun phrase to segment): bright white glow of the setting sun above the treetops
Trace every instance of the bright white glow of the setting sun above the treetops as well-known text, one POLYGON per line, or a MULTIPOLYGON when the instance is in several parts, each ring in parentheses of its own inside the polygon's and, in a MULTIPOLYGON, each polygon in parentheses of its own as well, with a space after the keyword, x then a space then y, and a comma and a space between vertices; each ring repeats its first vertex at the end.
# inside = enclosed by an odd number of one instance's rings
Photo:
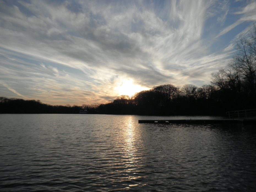
POLYGON ((146 87, 141 87, 139 85, 134 85, 133 80, 124 80, 122 84, 116 88, 120 95, 129 95, 132 96, 137 92, 142 90, 148 90, 146 87))

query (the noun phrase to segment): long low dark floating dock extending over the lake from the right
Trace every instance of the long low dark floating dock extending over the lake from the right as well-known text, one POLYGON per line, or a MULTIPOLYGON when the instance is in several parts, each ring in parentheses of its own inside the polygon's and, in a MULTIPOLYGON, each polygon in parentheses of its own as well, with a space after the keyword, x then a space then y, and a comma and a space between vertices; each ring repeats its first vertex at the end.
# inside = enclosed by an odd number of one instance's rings
POLYGON ((171 119, 171 120, 139 120, 139 123, 166 123, 166 124, 256 124, 256 119, 171 119))

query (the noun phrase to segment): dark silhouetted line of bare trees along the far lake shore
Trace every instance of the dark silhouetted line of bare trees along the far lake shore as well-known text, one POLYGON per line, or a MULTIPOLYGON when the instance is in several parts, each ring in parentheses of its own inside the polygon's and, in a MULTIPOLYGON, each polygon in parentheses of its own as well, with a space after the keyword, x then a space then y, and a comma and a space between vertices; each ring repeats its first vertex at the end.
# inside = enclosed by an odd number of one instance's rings
POLYGON ((236 41, 232 61, 211 74, 211 83, 164 84, 121 95, 113 102, 82 106, 52 106, 39 100, 0 97, 0 113, 79 113, 137 115, 220 115, 227 111, 256 108, 256 26, 236 41))

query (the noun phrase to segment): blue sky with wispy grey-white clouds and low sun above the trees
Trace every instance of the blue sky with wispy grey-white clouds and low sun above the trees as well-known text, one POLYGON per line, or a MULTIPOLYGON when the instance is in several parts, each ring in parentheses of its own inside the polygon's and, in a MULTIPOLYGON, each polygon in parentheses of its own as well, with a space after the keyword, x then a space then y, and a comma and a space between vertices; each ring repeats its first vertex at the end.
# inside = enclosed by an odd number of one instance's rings
POLYGON ((82 105, 200 87, 255 21, 255 0, 0 0, 0 97, 82 105))

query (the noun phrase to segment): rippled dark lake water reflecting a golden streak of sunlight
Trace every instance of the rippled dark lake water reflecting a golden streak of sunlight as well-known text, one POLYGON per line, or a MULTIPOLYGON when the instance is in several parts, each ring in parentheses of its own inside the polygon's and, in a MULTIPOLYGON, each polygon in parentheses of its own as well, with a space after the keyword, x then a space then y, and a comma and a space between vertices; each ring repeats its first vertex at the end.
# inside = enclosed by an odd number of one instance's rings
POLYGON ((255 125, 171 118, 0 114, 0 191, 256 191, 255 125))

